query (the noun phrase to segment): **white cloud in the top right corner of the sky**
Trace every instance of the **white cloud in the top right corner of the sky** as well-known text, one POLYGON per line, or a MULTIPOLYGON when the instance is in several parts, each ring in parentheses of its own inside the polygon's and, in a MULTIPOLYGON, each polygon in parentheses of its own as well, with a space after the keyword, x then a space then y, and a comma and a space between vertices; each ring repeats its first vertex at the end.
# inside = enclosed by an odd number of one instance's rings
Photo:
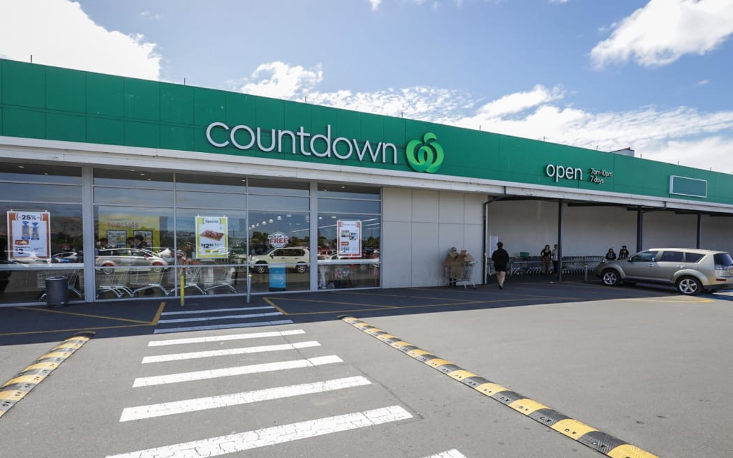
POLYGON ((630 59, 644 67, 666 65, 712 51, 733 34, 733 1, 650 0, 613 28, 591 51, 594 67, 630 59))

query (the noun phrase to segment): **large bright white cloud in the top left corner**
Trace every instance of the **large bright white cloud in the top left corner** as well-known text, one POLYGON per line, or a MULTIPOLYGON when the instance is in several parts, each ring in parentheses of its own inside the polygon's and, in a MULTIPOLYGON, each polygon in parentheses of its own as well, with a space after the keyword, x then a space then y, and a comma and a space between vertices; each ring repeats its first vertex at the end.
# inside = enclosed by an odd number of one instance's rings
POLYGON ((155 44, 97 26, 76 2, 4 1, 0 55, 7 59, 158 80, 155 44), (29 21, 32 18, 32 21, 29 21))

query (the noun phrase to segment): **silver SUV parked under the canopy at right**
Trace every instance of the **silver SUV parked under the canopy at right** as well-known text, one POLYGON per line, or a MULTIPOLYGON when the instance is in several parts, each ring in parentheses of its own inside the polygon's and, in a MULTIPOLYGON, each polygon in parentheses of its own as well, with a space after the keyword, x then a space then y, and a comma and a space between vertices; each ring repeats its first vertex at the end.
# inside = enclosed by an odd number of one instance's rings
POLYGON ((595 276, 603 284, 637 281, 671 284, 684 295, 733 287, 733 259, 725 251, 651 248, 628 259, 601 262, 595 276))

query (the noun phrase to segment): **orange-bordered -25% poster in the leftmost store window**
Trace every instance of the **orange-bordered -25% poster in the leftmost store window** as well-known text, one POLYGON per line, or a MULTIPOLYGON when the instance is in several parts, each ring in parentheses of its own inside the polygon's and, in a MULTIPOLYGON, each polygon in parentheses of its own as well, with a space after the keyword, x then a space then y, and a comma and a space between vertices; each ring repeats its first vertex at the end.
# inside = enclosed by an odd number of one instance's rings
POLYGON ((51 257, 51 213, 7 213, 8 258, 15 261, 51 257))

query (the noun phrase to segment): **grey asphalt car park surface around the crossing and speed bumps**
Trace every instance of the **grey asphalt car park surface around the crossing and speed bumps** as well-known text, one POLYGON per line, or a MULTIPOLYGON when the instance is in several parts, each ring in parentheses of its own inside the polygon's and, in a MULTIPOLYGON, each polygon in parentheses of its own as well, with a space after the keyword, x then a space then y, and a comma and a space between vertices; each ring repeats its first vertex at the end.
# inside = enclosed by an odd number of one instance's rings
MULTIPOLYGON (((687 297, 671 287, 637 284, 609 288, 600 281, 516 277, 509 278, 502 290, 488 284, 476 290, 432 287, 263 295, 253 297, 250 303, 241 297, 192 297, 184 306, 174 300, 146 300, 74 304, 58 309, 13 307, 0 309, 4 319, 0 376, 8 380, 56 342, 77 332, 95 330, 89 343, 60 366, 63 370, 56 375, 56 383, 64 380, 63 388, 73 389, 74 372, 79 371, 81 377, 88 369, 94 375, 87 376, 88 382, 78 382, 84 389, 100 393, 67 396, 89 402, 103 402, 109 397, 105 402, 114 404, 117 382, 104 380, 113 374, 116 379, 124 378, 125 372, 139 371, 136 363, 125 361, 141 351, 136 343, 140 339, 151 339, 156 330, 182 325, 169 318, 191 316, 201 320, 214 314, 234 316, 237 309, 272 307, 292 324, 266 329, 303 329, 317 336, 324 346, 339 348, 352 372, 378 380, 390 397, 404 402, 418 418, 410 426, 395 426, 386 440, 380 439, 383 433, 372 435, 365 430, 352 443, 361 448, 345 449, 344 441, 339 441, 339 446, 331 444, 340 448, 330 448, 334 454, 328 456, 367 457, 374 456, 375 451, 390 454, 388 444, 397 441, 395 435, 401 429, 405 437, 400 440, 407 444, 412 444, 411 440, 452 440, 444 449, 456 447, 465 457, 600 456, 578 440, 531 421, 501 402, 484 402, 486 397, 475 390, 339 320, 344 316, 364 320, 400 341, 648 452, 639 457, 724 456, 733 446, 733 439, 726 433, 733 421, 724 415, 733 408, 729 387, 733 369, 723 356, 733 350, 733 303, 729 299, 726 292, 687 297), (375 448, 366 447, 368 443, 375 448)), ((197 330, 175 333, 174 337, 205 338, 263 329, 197 330)), ((22 408, 22 413, 11 410, 0 418, 0 432, 16 432, 15 422, 21 426, 29 418, 28 410, 43 412, 40 403, 54 399, 54 375, 43 383, 39 394, 32 392, 13 407, 22 408)), ((292 409, 305 412, 320 410, 323 405, 328 403, 294 405, 292 409)), ((86 421, 84 411, 76 408, 69 405, 59 413, 42 413, 48 419, 34 427, 63 424, 64 410, 76 421, 86 421)), ((281 420, 273 413, 262 415, 270 421, 281 420)), ((240 416, 239 421, 245 421, 245 417, 250 421, 257 415, 250 412, 240 416)), ((115 432, 114 425, 94 419, 108 435, 125 437, 124 430, 115 432)), ((226 415, 212 424, 219 421, 226 422, 226 415)), ((77 428, 82 426, 78 424, 77 428)), ((139 429, 136 424, 125 428, 133 426, 139 429)), ((160 437, 175 435, 171 426, 171 420, 161 424, 160 437)), ((196 431, 191 425, 181 425, 180 429, 192 435, 196 431)), ((48 434, 27 432, 44 433, 48 434)), ((144 436, 142 431, 138 434, 144 436)), ((54 435, 58 437, 59 432, 54 435)), ((137 449, 114 442, 120 451, 137 449)), ((304 440, 301 446, 308 448, 308 444, 304 440)), ((18 447, 10 450, 17 451, 18 447)), ((295 450, 289 448, 282 456, 295 454, 295 450)), ((391 456, 427 456, 406 450, 408 446, 401 454, 393 452, 391 456)), ((311 451, 318 454, 317 449, 311 451)), ((78 453, 76 456, 86 456, 78 453)), ((301 454, 309 456, 307 451, 301 454)))

